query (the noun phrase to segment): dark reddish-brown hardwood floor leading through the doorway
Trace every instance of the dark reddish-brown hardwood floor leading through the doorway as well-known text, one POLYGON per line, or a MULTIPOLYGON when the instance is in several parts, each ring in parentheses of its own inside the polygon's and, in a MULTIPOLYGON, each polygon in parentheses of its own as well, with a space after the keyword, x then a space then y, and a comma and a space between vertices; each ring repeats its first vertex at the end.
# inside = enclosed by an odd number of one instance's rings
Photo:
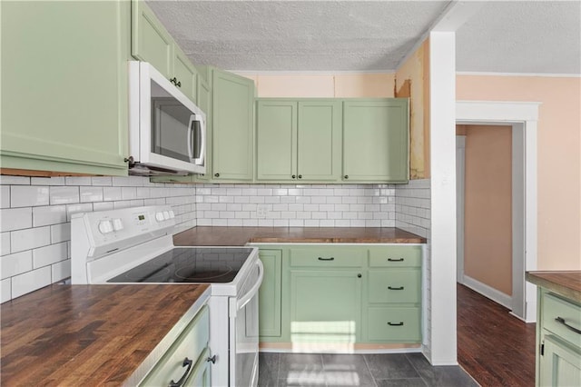
POLYGON ((458 284, 458 363, 482 386, 535 385, 535 324, 458 284))

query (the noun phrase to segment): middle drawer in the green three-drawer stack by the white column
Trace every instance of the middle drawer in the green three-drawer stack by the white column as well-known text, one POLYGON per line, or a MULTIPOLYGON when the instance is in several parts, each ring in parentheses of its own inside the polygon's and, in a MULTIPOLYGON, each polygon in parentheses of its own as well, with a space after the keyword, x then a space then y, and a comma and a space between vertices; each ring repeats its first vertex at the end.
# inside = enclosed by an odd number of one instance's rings
POLYGON ((369 303, 419 303, 419 269, 369 271, 369 303))

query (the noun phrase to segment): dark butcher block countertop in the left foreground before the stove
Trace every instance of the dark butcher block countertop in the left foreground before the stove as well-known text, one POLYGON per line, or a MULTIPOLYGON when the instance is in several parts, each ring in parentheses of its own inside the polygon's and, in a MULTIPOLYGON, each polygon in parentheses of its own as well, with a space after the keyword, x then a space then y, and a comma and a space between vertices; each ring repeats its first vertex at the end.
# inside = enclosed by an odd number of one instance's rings
POLYGON ((208 288, 54 284, 3 303, 2 384, 120 385, 177 338, 208 288))

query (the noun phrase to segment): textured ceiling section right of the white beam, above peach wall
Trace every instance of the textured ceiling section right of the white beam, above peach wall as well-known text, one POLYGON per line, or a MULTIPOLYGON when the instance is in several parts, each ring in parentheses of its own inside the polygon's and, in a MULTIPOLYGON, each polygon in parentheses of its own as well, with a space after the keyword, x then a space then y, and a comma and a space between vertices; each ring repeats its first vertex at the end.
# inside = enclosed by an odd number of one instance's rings
POLYGON ((457 70, 581 74, 581 2, 490 2, 456 33, 457 70))

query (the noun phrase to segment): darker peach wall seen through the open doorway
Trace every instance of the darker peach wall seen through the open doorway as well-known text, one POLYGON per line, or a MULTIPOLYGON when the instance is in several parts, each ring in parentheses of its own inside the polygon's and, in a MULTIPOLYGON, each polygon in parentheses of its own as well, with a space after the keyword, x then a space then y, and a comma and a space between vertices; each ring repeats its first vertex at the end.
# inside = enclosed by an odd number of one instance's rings
POLYGON ((512 127, 467 125, 464 273, 512 294, 512 127))

